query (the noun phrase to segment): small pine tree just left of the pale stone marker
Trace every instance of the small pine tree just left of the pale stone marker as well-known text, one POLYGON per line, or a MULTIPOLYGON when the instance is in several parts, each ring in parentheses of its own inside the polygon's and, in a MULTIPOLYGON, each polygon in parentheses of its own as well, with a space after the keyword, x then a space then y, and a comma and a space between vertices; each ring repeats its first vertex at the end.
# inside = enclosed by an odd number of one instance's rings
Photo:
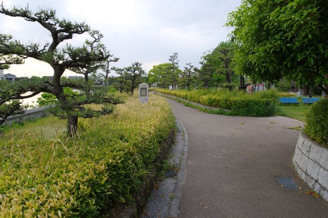
POLYGON ((142 63, 134 62, 130 67, 119 69, 115 71, 119 74, 117 89, 129 95, 133 95, 134 90, 141 83, 142 76, 145 75, 144 69, 141 67, 142 63))

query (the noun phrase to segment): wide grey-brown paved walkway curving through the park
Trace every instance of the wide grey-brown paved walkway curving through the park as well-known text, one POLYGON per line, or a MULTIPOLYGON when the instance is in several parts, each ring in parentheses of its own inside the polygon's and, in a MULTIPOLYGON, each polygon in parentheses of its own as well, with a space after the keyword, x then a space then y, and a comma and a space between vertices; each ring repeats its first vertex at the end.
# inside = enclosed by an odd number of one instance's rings
POLYGON ((304 193, 292 157, 300 122, 212 115, 168 99, 189 135, 179 217, 328 217, 328 203, 304 193), (275 176, 302 187, 288 190, 275 176))

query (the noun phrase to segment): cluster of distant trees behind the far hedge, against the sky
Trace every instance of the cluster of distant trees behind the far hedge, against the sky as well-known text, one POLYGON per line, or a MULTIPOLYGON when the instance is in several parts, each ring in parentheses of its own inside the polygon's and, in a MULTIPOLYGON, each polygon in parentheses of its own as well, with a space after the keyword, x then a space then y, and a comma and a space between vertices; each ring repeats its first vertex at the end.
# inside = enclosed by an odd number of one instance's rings
POLYGON ((199 61, 200 68, 194 67, 192 63, 187 63, 183 71, 179 69, 178 53, 173 53, 168 63, 161 63, 149 71, 150 84, 156 84, 159 88, 191 89, 204 86, 217 87, 219 84, 232 83, 236 80, 232 66, 235 45, 230 42, 220 42, 215 49, 206 51, 199 61))

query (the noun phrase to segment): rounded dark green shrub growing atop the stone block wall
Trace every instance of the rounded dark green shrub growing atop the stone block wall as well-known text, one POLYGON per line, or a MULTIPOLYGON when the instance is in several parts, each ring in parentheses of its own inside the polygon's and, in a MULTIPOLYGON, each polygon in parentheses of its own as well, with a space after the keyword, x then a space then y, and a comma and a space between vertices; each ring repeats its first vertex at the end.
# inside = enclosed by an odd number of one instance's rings
POLYGON ((321 99, 305 112, 305 128, 310 138, 320 144, 328 145, 328 99, 321 99))

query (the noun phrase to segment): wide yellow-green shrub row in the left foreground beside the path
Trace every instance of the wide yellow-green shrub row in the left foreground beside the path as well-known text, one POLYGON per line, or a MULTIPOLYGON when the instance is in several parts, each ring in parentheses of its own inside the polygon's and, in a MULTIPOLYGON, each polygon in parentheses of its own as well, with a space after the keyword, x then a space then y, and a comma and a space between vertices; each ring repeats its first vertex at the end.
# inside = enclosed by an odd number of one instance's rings
POLYGON ((129 99, 79 120, 73 139, 25 134, 0 144, 1 217, 98 217, 129 203, 174 128, 165 99, 129 99))

